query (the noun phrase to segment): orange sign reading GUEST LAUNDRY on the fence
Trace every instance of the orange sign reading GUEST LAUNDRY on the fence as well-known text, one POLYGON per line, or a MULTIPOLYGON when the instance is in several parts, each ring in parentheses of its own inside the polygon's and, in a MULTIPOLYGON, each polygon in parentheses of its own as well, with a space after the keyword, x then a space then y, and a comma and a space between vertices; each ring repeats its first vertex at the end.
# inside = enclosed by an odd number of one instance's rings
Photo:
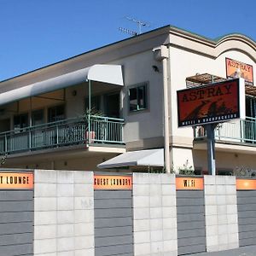
POLYGON ((94 189, 126 190, 132 188, 130 176, 94 176, 94 189))

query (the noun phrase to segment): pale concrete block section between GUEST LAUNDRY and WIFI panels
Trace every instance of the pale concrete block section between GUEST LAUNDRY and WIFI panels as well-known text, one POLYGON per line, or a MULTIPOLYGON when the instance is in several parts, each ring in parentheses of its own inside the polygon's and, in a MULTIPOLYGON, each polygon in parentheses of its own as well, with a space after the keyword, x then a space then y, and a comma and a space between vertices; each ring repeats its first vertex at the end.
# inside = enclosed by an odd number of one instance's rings
POLYGON ((177 255, 175 176, 133 174, 134 255, 177 255))

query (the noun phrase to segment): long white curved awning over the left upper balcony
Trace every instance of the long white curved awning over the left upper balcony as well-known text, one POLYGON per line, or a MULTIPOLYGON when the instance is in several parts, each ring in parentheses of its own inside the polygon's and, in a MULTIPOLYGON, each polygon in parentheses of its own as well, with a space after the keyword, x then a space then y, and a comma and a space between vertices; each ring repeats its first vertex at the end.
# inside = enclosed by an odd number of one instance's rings
POLYGON ((121 66, 97 64, 91 67, 79 69, 72 73, 63 74, 53 79, 47 79, 15 90, 3 92, 0 94, 0 105, 16 102, 31 96, 38 96, 46 92, 63 89, 71 85, 83 83, 86 80, 124 85, 121 66))

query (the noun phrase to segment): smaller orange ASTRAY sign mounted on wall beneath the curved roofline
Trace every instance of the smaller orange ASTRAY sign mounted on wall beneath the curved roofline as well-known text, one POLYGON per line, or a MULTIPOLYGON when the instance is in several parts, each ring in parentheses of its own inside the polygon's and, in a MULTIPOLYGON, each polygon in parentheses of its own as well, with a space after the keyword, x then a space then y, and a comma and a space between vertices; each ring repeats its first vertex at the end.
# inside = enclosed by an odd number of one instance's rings
POLYGON ((253 66, 240 61, 234 61, 226 58, 227 78, 236 78, 239 72, 241 78, 245 79, 246 84, 253 85, 253 66))

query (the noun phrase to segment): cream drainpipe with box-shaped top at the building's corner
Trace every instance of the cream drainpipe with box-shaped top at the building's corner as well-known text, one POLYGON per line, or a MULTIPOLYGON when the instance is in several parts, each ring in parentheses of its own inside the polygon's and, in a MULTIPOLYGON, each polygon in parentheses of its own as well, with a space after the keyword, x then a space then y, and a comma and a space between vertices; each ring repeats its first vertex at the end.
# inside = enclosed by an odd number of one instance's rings
POLYGON ((165 125, 165 167, 166 172, 171 172, 170 166, 170 137, 169 137, 169 109, 168 109, 168 82, 167 82, 167 59, 169 57, 166 45, 160 45, 153 49, 154 59, 162 62, 163 89, 164 89, 164 125, 165 125))

